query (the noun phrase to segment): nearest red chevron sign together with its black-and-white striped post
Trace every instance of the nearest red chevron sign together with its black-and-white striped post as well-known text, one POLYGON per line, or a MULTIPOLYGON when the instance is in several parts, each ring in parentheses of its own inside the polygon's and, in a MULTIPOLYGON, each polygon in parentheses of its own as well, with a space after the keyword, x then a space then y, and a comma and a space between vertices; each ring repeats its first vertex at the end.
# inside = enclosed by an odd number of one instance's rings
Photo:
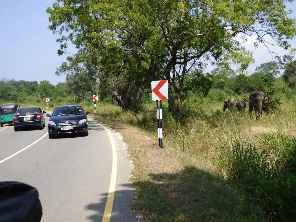
POLYGON ((168 100, 168 80, 152 81, 151 90, 152 101, 156 101, 158 146, 163 148, 163 107, 161 101, 168 100))

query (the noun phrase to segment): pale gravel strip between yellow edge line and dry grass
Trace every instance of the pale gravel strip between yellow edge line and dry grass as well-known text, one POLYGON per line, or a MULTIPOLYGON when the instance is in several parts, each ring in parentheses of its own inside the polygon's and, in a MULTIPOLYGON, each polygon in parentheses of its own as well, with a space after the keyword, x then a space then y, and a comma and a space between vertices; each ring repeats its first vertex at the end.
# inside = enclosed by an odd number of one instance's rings
MULTIPOLYGON (((96 120, 98 121, 98 120, 96 120)), ((101 121, 98 121, 99 123, 101 123, 105 128, 106 130, 110 131, 112 133, 112 136, 113 136, 113 139, 115 141, 115 146, 116 146, 116 152, 118 153, 118 150, 123 150, 123 152, 125 153, 125 156, 126 158, 128 159, 128 162, 130 163, 130 174, 132 173, 133 169, 135 168, 135 165, 133 163, 133 160, 130 158, 130 155, 128 154, 128 149, 127 149, 127 145, 126 143, 124 142, 124 138, 123 136, 117 132, 115 129, 112 129, 111 127, 109 126, 106 126, 104 123, 102 123, 101 121)), ((135 191, 136 189, 133 187, 133 190, 135 191)), ((136 199, 137 196, 135 195, 135 197, 133 197, 133 199, 136 199)), ((143 222, 143 216, 137 212, 136 212, 136 220, 137 222, 143 222)))

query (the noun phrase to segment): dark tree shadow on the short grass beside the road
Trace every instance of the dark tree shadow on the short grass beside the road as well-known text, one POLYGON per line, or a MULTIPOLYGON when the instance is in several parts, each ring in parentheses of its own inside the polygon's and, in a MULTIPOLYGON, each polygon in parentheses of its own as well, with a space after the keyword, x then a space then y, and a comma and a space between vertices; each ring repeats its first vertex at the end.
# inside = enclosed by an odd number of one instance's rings
POLYGON ((148 221, 264 221, 242 189, 194 166, 134 185, 139 198, 131 206, 148 221))

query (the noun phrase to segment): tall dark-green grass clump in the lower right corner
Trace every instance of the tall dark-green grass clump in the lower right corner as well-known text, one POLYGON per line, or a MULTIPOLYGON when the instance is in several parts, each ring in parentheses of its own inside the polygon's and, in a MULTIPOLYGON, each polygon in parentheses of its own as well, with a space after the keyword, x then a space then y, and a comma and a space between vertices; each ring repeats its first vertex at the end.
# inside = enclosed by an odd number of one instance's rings
POLYGON ((262 133, 258 143, 239 139, 224 143, 218 161, 221 172, 251 192, 274 221, 296 216, 296 139, 281 129, 262 133))

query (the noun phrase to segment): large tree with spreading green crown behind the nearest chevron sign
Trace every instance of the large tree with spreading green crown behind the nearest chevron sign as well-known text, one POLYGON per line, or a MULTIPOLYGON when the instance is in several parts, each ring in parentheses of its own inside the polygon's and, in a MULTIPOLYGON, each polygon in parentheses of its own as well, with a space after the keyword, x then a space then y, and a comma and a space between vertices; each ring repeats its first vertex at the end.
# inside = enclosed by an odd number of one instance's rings
MULTIPOLYGON (((106 52, 111 58, 121 55, 127 62, 120 65, 127 79, 137 81, 136 88, 145 89, 151 80, 169 81, 169 107, 176 113, 172 87, 181 103, 189 67, 202 67, 212 58, 216 65, 238 63, 242 71, 253 62, 251 53, 234 38, 239 34, 255 35, 257 43, 266 45, 263 36, 269 35, 279 46, 289 48, 287 39, 295 35, 296 28, 285 2, 57 0, 47 13, 49 28, 62 35, 59 54, 70 41, 79 52, 87 48, 91 56, 106 52)), ((121 58, 109 59, 107 65, 118 67, 110 63, 121 58)), ((108 71, 116 78, 114 70, 108 71)), ((117 98, 120 96, 124 95, 117 98)))

